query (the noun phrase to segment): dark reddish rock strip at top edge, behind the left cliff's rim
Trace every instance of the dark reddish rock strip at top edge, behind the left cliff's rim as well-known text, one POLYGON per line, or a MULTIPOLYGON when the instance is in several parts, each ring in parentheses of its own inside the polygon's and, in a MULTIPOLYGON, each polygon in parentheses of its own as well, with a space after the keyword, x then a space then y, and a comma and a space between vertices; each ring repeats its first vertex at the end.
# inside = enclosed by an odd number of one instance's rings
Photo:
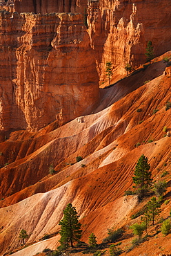
POLYGON ((83 12, 87 7, 87 0, 14 0, 16 12, 83 12))

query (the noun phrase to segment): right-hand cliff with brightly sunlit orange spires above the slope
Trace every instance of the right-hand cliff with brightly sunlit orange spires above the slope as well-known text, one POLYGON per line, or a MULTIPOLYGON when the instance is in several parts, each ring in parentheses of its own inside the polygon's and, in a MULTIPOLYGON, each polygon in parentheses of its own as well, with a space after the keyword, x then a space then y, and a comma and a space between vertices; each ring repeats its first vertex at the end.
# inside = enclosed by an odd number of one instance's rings
POLYGON ((170 10, 168 0, 90 0, 88 32, 100 80, 106 80, 108 61, 112 62, 114 74, 125 74, 127 63, 132 67, 143 64, 149 40, 156 56, 170 51, 170 10))

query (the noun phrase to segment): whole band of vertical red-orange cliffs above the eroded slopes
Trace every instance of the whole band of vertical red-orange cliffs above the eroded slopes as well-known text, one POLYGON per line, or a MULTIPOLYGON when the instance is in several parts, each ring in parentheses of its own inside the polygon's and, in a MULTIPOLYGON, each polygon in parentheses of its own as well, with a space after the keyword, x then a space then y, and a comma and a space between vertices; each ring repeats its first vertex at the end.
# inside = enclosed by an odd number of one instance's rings
POLYGON ((10 12, 0 15, 1 130, 37 130, 91 113, 106 62, 123 75, 125 64, 145 62, 148 40, 155 55, 170 50, 170 1, 15 0, 17 12, 8 2, 10 12), (75 13, 87 6, 88 30, 75 13))

